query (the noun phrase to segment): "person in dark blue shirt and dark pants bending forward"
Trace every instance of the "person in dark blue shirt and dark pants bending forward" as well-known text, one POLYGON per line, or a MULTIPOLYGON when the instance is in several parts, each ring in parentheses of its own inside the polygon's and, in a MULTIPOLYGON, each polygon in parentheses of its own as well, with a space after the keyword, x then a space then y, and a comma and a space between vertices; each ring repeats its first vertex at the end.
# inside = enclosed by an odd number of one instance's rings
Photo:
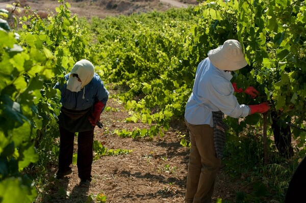
POLYGON ((94 66, 87 60, 75 63, 66 74, 67 82, 58 82, 54 88, 61 91, 59 115, 60 154, 59 168, 55 178, 62 179, 72 173, 74 133, 78 132, 78 173, 81 187, 89 187, 93 161, 93 130, 100 120, 100 113, 108 101, 108 91, 94 66))

